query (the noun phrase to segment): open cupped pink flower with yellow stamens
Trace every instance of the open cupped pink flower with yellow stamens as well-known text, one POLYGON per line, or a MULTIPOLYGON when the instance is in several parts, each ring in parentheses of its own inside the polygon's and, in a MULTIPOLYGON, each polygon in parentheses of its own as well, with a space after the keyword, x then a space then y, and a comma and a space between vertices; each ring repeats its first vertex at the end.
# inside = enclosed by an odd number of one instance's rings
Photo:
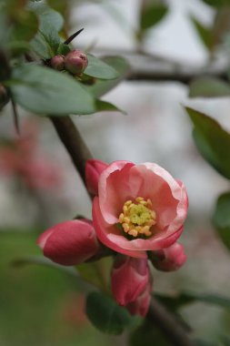
POLYGON ((115 161, 102 172, 93 221, 106 247, 135 258, 165 249, 181 235, 187 213, 182 182, 155 163, 115 161))

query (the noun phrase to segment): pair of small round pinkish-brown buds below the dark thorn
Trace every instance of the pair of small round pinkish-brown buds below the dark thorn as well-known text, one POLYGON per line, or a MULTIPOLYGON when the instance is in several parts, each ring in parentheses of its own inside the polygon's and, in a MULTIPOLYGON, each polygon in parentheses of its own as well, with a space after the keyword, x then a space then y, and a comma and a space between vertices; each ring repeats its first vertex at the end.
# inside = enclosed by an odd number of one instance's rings
POLYGON ((78 49, 72 50, 66 56, 53 56, 50 60, 50 66, 55 70, 65 70, 73 76, 80 76, 87 65, 87 56, 78 49))

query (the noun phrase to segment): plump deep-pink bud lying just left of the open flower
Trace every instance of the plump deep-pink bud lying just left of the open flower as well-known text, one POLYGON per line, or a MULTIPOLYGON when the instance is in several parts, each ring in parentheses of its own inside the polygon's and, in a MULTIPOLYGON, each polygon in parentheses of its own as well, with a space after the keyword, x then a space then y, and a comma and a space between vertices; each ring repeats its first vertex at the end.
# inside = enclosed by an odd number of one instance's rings
POLYGON ((85 219, 65 221, 47 229, 37 244, 45 257, 65 266, 82 263, 100 251, 95 229, 85 219))

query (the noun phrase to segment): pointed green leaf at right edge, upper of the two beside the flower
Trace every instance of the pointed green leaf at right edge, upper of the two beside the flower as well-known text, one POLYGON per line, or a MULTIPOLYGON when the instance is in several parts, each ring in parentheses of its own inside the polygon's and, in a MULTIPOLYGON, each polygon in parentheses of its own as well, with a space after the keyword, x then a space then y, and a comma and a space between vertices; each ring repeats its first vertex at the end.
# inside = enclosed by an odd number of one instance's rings
POLYGON ((201 155, 225 178, 230 179, 230 134, 212 117, 185 107, 194 124, 195 144, 201 155))

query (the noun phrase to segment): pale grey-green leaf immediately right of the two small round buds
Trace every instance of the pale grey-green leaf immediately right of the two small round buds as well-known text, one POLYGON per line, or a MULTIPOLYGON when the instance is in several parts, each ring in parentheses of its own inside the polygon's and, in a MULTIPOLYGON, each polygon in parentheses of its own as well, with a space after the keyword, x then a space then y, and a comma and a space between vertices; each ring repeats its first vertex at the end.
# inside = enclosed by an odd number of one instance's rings
POLYGON ((103 60, 87 54, 88 66, 85 68, 86 76, 94 76, 100 79, 115 79, 119 76, 115 68, 106 64, 103 60))

